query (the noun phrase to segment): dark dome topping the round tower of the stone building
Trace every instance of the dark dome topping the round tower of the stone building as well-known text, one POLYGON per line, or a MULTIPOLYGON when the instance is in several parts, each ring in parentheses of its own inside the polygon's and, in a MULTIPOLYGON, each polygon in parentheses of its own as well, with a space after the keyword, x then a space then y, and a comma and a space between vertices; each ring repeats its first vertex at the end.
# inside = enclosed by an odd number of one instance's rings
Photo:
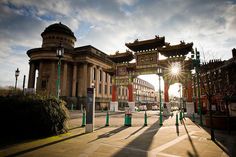
MULTIPOLYGON (((54 23, 50 26, 48 26, 43 33, 41 34, 41 36, 47 34, 47 33, 60 33, 60 34, 66 34, 69 35, 73 38, 75 38, 74 33, 71 31, 71 29, 69 27, 67 27, 66 25, 63 25, 61 22, 59 23, 54 23)), ((76 38, 75 38, 76 39, 76 38)))

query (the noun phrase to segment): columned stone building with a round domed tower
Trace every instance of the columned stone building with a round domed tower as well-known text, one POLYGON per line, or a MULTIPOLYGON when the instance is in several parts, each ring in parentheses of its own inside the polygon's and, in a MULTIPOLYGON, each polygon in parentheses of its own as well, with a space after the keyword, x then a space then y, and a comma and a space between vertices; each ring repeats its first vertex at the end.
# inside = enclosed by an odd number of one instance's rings
MULTIPOLYGON (((30 58, 28 88, 46 96, 57 95, 59 58, 56 51, 62 45, 60 97, 80 109, 86 103, 87 88, 94 84, 96 109, 107 107, 112 97, 112 76, 104 69, 115 65, 110 56, 91 45, 75 47, 74 33, 62 23, 48 26, 41 36, 42 46, 27 51, 30 58)), ((122 95, 124 100, 127 95, 127 92, 122 95)))

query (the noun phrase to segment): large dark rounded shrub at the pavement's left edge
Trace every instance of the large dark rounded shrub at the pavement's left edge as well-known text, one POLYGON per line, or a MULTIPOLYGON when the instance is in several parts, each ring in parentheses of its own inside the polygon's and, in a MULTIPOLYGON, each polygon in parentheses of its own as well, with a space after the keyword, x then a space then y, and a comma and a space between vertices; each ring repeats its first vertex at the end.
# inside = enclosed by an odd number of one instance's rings
POLYGON ((37 95, 0 97, 1 135, 37 138, 67 131, 65 102, 37 95))

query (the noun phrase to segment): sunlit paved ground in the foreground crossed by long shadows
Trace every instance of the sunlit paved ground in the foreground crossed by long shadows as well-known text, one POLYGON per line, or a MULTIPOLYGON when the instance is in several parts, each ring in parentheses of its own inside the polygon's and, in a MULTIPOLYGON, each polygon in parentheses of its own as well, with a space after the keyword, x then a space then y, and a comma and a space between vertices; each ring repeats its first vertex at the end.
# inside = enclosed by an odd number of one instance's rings
POLYGON ((110 126, 104 127, 106 113, 98 113, 95 130, 85 133, 79 127, 81 116, 69 121, 68 133, 22 142, 0 149, 0 156, 19 157, 227 157, 236 156, 236 134, 216 131, 216 141, 208 129, 185 117, 176 126, 175 115, 164 117, 159 126, 157 112, 148 113, 148 126, 143 126, 144 112, 134 113, 132 127, 123 126, 123 114, 112 113, 110 126), (76 126, 77 125, 77 126, 76 126))

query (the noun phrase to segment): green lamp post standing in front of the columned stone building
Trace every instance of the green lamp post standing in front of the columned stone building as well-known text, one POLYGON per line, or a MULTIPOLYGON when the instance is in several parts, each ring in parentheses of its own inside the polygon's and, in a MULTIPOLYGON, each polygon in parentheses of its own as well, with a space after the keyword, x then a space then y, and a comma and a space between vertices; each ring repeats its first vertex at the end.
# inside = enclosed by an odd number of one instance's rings
POLYGON ((64 55, 64 48, 60 43, 59 47, 57 48, 57 57, 58 57, 58 64, 57 64, 57 98, 60 97, 60 83, 61 83, 61 58, 64 55))

